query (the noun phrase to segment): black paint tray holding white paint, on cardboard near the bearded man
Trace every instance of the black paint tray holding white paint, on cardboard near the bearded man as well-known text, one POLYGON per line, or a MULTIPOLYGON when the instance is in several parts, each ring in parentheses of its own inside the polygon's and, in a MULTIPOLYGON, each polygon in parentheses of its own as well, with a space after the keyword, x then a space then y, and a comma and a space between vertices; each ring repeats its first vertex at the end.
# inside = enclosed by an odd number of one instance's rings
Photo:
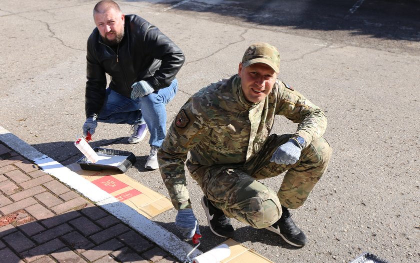
POLYGON ((92 163, 86 156, 81 157, 77 163, 83 170, 119 170, 124 173, 135 163, 135 156, 132 152, 120 151, 106 148, 93 148, 93 151, 99 156, 99 160, 92 163))

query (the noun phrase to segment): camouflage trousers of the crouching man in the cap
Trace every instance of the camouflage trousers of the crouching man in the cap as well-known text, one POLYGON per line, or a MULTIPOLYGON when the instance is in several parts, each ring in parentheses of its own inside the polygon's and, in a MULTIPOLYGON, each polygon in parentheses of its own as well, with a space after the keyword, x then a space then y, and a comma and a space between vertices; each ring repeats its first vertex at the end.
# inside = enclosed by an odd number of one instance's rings
POLYGON ((245 165, 216 165, 190 171, 204 195, 233 217, 254 228, 267 227, 281 216, 281 205, 298 208, 324 173, 331 148, 323 138, 312 141, 302 150, 300 159, 292 165, 270 162, 277 147, 291 134, 268 137, 258 154, 245 165), (284 171, 283 181, 277 194, 258 180, 278 176, 284 171))

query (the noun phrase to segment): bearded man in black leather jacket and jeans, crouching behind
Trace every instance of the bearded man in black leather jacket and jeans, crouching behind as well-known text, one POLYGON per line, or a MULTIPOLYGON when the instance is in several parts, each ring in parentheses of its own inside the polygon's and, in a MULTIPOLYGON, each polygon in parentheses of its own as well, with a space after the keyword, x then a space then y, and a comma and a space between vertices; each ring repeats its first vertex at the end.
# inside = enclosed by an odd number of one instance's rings
POLYGON ((87 40, 83 134, 97 122, 133 125, 129 143, 150 132, 145 168, 157 169, 156 152, 166 135, 165 105, 177 91, 182 51, 158 28, 136 15, 123 15, 110 0, 93 9, 96 28, 87 40), (106 88, 106 75, 110 76, 106 88))

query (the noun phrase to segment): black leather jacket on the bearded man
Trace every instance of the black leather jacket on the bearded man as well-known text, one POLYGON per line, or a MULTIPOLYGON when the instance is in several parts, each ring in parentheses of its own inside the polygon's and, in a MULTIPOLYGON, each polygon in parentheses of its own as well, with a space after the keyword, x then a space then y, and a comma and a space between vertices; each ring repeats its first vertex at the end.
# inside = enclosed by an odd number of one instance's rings
POLYGON ((158 28, 136 15, 126 15, 124 37, 116 52, 105 45, 95 28, 87 40, 86 118, 97 117, 103 105, 107 73, 109 88, 129 98, 131 85, 145 80, 155 89, 165 88, 182 64, 182 51, 158 28))

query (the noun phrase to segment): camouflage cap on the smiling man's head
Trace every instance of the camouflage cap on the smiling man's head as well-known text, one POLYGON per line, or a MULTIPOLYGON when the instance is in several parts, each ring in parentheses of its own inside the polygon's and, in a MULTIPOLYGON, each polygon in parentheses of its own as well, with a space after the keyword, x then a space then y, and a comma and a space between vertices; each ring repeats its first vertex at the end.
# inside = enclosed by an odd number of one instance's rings
POLYGON ((251 44, 242 57, 242 66, 248 67, 254 63, 264 63, 270 66, 275 73, 280 71, 280 53, 267 43, 251 44))

